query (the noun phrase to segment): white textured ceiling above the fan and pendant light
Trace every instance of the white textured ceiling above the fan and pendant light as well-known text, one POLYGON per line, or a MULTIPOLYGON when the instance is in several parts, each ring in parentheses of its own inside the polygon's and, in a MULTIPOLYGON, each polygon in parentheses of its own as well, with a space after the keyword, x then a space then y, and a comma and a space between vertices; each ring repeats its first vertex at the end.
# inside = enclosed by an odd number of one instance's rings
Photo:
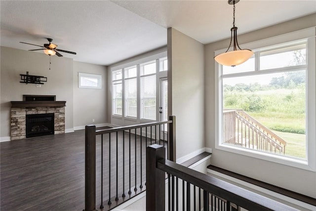
MULTIPOLYGON (((24 50, 52 38, 76 61, 110 65, 166 45, 168 27, 202 43, 230 37, 227 0, 0 1, 1 46, 24 50)), ((240 0, 238 34, 316 12, 316 0, 240 0)), ((37 51, 41 52, 41 51, 37 51)), ((42 53, 42 52, 41 52, 42 53)))

